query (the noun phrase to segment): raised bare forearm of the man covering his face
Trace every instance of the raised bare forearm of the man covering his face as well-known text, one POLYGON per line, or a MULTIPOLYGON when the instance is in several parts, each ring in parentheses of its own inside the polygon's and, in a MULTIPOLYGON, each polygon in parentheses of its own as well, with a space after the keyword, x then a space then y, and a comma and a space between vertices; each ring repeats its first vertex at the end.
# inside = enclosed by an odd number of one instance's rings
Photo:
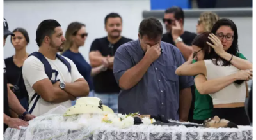
POLYGON ((147 58, 143 57, 136 66, 125 71, 119 80, 119 87, 124 90, 134 87, 147 72, 150 64, 151 63, 148 62, 147 58))

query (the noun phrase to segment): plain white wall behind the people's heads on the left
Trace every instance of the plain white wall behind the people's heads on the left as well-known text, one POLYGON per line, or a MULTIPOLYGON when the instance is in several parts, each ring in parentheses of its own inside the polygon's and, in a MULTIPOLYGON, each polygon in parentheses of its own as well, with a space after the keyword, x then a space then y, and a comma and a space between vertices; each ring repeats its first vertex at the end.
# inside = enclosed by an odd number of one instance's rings
MULTIPOLYGON (((60 22, 65 32, 68 24, 74 21, 86 24, 89 36, 81 53, 88 61, 90 45, 95 38, 106 36, 104 18, 108 13, 116 12, 123 18, 122 35, 138 38, 138 26, 143 20, 142 11, 150 10, 149 0, 122 1, 4 1, 4 18, 8 21, 10 31, 23 27, 28 31, 31 43, 27 52, 35 52, 38 46, 35 41, 36 28, 45 19, 55 19, 60 22)), ((4 58, 10 57, 15 50, 7 38, 4 47, 4 58)), ((89 62, 89 61, 88 61, 89 62)))

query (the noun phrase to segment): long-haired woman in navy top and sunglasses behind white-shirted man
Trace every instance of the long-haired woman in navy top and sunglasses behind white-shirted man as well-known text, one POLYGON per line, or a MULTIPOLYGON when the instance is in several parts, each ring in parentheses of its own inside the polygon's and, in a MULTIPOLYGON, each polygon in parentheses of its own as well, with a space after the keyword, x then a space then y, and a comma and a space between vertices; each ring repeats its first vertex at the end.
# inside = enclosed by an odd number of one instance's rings
MULTIPOLYGON (((68 57, 68 59, 71 59, 74 64, 76 64, 79 73, 84 76, 90 87, 90 93, 88 96, 93 97, 92 76, 95 76, 102 71, 106 71, 106 67, 108 67, 108 60, 103 61, 101 66, 92 69, 90 64, 88 64, 81 53, 79 53, 79 47, 84 46, 87 36, 88 33, 86 32, 84 24, 79 22, 72 22, 69 24, 65 34, 65 38, 67 40, 61 54, 68 57)), ((72 101, 72 105, 74 104, 76 104, 76 101, 72 101)))

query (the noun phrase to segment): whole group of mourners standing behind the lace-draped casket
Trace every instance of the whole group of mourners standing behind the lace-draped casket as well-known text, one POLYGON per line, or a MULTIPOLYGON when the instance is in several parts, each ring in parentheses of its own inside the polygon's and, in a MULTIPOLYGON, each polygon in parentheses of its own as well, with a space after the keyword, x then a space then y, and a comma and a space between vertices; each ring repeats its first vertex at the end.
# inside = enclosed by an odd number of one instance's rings
POLYGON ((165 11, 163 22, 164 34, 156 18, 142 20, 132 41, 121 35, 122 17, 109 13, 108 36, 93 41, 88 63, 79 52, 88 36, 85 24, 72 22, 64 33, 56 20, 42 21, 38 52, 28 54, 26 29, 10 32, 4 19, 4 43, 11 35, 15 48, 4 60, 4 130, 86 96, 99 97, 115 113, 198 124, 219 116, 250 125, 245 99, 252 63, 239 52, 236 24, 205 12, 196 33, 184 31, 184 12, 176 6, 165 11))

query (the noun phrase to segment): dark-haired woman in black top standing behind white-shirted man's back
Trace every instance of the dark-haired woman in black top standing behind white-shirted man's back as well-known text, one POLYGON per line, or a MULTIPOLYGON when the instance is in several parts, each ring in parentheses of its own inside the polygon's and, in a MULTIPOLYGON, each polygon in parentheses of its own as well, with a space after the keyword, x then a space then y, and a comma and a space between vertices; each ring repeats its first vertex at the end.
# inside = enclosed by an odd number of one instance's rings
MULTIPOLYGON (((22 72, 22 65, 29 55, 26 52, 26 46, 29 43, 28 32, 23 28, 17 28, 13 30, 13 34, 15 34, 15 36, 12 36, 11 43, 15 48, 15 54, 12 57, 4 59, 6 71, 8 71, 6 77, 11 89, 13 85, 16 85, 22 72)), ((20 100, 21 96, 17 94, 16 96, 20 100)), ((10 114, 13 118, 18 118, 18 115, 12 110, 10 110, 10 114)))

